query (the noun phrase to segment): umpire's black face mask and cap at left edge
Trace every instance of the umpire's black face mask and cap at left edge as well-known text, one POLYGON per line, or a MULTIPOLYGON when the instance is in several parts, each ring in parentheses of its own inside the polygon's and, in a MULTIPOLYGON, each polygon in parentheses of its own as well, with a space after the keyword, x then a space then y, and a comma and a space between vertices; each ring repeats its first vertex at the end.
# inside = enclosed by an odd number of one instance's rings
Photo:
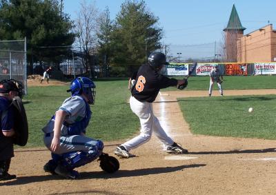
POLYGON ((0 93, 8 93, 10 91, 18 92, 18 96, 23 98, 24 85, 20 81, 14 79, 4 79, 0 81, 0 93))

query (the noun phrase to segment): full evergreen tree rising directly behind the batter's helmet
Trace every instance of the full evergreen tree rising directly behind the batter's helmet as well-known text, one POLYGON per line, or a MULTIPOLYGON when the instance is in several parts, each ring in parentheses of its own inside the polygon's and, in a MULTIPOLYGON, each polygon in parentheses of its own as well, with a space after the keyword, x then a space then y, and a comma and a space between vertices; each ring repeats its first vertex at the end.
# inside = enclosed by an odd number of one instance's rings
POLYGON ((124 65, 128 75, 147 61, 150 52, 161 48, 162 29, 158 20, 146 10, 144 1, 127 0, 121 5, 112 33, 115 51, 112 61, 124 65))

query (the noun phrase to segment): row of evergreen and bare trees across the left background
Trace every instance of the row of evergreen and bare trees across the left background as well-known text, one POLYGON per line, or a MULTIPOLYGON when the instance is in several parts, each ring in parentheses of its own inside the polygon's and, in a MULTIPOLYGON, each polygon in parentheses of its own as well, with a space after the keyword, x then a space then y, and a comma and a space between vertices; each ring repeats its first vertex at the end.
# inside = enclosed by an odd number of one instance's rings
MULTIPOLYGON (((0 40, 27 39, 28 65, 59 63, 72 58, 78 48, 83 67, 91 70, 97 54, 99 65, 124 67, 131 74, 148 54, 162 48, 159 18, 140 0, 126 0, 115 19, 109 8, 99 11, 95 2, 81 2, 75 20, 63 12, 58 0, 0 0, 0 40)), ((108 76, 108 74, 103 75, 108 76)))

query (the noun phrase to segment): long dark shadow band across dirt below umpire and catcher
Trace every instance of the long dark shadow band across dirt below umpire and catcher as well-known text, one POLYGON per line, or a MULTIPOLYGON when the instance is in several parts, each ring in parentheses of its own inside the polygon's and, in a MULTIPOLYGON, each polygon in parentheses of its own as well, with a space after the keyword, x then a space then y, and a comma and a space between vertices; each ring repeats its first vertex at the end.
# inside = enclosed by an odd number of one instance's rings
MULTIPOLYGON (((128 178, 131 176, 146 176, 152 174, 163 174, 169 172, 177 172, 179 170, 184 170, 188 168, 196 168, 196 167, 203 167, 206 164, 193 164, 193 165, 181 165, 177 167, 152 167, 146 168, 141 170, 119 170, 114 174, 107 174, 106 172, 80 172, 82 179, 89 179, 89 178, 128 178)), ((3 185, 24 185, 27 183, 37 183, 43 181, 52 181, 52 180, 63 180, 60 176, 57 175, 46 175, 46 176, 21 176, 12 181, 6 181, 0 183, 0 186, 3 185)))

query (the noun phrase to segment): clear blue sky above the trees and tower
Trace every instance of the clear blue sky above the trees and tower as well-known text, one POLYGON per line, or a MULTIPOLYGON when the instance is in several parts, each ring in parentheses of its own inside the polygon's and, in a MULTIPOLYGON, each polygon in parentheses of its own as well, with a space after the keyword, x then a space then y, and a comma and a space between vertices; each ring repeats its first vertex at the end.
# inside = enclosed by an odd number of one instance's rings
MULTIPOLYGON (((63 0, 63 12, 75 19, 79 3, 83 0, 63 0)), ((93 1, 86 0, 87 3, 93 1)), ((121 9, 123 0, 96 0, 100 11, 106 6, 111 19, 121 9)), ((222 30, 226 27, 233 4, 239 14, 244 34, 257 30, 269 23, 276 29, 275 0, 145 0, 146 7, 156 17, 164 29, 162 43, 168 45, 172 56, 209 57, 214 50, 219 51, 222 30), (199 48, 206 46, 208 52, 199 48), (192 48, 195 48, 192 51, 192 48), (177 54, 181 53, 181 54, 177 54)))

